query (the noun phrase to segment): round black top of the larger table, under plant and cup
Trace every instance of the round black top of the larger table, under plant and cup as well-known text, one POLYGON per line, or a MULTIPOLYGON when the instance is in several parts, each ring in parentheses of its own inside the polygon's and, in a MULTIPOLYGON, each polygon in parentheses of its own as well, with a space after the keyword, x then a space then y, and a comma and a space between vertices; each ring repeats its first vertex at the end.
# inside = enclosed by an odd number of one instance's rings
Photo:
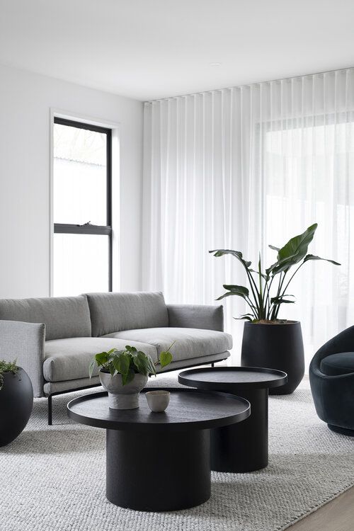
POLYGON ((107 392, 80 396, 67 405, 74 421, 108 430, 203 430, 244 421, 251 414, 249 401, 231 394, 204 389, 147 387, 141 392, 139 408, 110 409, 107 392), (171 392, 163 413, 153 413, 144 393, 154 389, 171 392))

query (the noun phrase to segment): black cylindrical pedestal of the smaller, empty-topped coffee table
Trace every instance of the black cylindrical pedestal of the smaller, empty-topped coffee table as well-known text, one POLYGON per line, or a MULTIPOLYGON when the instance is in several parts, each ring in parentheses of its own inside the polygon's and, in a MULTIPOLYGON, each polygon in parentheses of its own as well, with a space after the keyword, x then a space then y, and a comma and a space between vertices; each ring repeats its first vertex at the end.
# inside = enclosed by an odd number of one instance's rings
POLYGON ((211 467, 218 472, 251 472, 268 464, 268 389, 239 389, 251 416, 211 430, 211 467))

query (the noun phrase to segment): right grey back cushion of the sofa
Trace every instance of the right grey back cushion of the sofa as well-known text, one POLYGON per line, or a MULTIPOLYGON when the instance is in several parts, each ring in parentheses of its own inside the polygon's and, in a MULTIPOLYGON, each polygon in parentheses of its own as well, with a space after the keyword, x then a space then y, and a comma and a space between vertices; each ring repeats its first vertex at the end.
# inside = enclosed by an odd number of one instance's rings
POLYGON ((169 326, 161 292, 88 293, 92 335, 169 326))

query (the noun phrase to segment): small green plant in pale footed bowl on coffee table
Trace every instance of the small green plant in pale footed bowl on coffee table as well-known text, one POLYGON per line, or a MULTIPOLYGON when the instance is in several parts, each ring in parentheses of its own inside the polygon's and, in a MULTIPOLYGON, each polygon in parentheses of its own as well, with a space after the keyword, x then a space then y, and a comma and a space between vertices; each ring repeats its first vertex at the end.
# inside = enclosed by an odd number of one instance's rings
POLYGON ((104 389, 108 391, 108 405, 111 409, 135 409, 139 407, 139 393, 147 384, 149 376, 156 375, 156 365, 166 367, 172 361, 170 349, 161 352, 158 361, 127 345, 125 350, 112 348, 101 352, 91 361, 90 378, 93 369, 99 367, 98 375, 104 389))

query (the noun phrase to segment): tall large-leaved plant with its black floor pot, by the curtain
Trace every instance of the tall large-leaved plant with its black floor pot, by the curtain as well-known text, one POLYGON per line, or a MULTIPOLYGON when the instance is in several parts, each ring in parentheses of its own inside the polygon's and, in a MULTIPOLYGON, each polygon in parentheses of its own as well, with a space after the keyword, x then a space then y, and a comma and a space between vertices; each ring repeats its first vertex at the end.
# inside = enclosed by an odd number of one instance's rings
POLYGON ((270 245, 277 252, 277 259, 270 267, 262 270, 261 253, 257 270, 251 268, 240 251, 217 249, 210 251, 214 256, 230 254, 243 265, 249 280, 249 288, 239 285, 224 285, 227 290, 217 300, 236 295, 242 297, 249 306, 249 313, 239 319, 245 319, 244 337, 241 349, 241 365, 266 367, 287 372, 287 384, 273 389, 272 394, 290 394, 299 385, 304 376, 304 346, 299 321, 279 319, 282 304, 295 302, 287 289, 304 263, 313 260, 325 260, 341 265, 327 258, 307 254, 317 224, 311 225, 303 234, 290 239, 279 248, 270 245), (296 266, 295 270, 292 268, 296 266))

